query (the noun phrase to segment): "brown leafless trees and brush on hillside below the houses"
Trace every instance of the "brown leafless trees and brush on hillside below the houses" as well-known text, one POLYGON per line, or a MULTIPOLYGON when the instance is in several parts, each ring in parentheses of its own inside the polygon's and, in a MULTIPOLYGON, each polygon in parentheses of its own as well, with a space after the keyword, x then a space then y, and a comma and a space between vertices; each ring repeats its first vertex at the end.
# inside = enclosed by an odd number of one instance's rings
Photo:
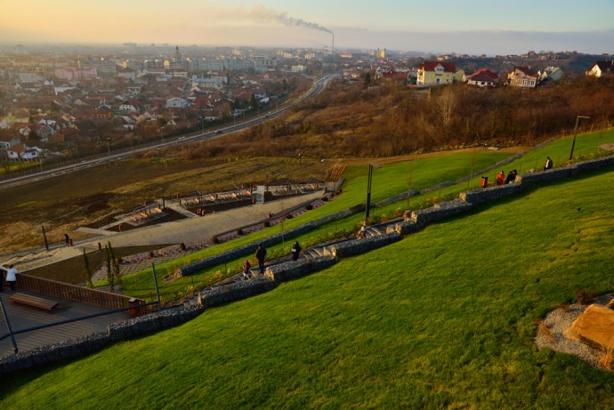
POLYGON ((220 157, 390 157, 476 144, 533 145, 614 122, 614 76, 577 77, 523 90, 450 84, 410 89, 336 81, 289 115, 242 133, 166 152, 220 157))

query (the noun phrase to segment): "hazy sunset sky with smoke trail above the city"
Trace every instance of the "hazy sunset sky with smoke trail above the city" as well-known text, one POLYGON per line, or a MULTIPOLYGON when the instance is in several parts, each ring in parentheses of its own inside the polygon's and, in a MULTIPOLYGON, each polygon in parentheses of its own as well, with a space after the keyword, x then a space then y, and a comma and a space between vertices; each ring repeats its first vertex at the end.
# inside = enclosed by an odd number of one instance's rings
POLYGON ((614 0, 0 0, 3 44, 614 54, 614 0), (334 35, 333 35, 334 33, 334 35))

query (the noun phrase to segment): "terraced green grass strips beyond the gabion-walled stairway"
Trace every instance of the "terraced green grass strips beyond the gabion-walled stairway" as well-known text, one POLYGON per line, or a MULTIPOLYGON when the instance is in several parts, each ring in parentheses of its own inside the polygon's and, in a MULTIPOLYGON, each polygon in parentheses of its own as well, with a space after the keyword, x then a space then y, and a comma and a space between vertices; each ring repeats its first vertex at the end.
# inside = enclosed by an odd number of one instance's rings
MULTIPOLYGON (((599 152, 599 145, 613 141, 614 131, 580 134, 576 142, 574 157, 594 155, 599 152)), ((555 166, 560 165, 561 163, 564 163, 567 158, 569 158, 570 147, 570 138, 552 141, 541 149, 529 151, 529 153, 520 159, 515 160, 512 164, 505 165, 505 170, 508 171, 511 169, 517 169, 519 173, 522 173, 526 172, 529 168, 539 169, 539 166, 543 166, 546 156, 553 158, 555 166)), ((489 165, 493 165, 505 157, 509 157, 509 154, 496 151, 485 152, 476 150, 474 158, 472 153, 465 152, 444 155, 442 157, 430 157, 398 164, 385 165, 383 168, 376 169, 374 171, 372 202, 375 203, 384 198, 392 197, 399 192, 407 190, 409 187, 413 189, 424 189, 436 185, 442 181, 454 181, 472 173, 472 171, 477 173, 481 169, 484 169, 489 165)), ((489 181, 495 181, 495 177, 498 172, 499 170, 494 170, 487 173, 487 175, 490 177, 489 181)), ((335 201, 327 205, 303 214, 299 218, 287 221, 284 224, 284 229, 291 229, 295 226, 303 224, 305 221, 313 221, 329 213, 335 213, 348 207, 364 203, 366 200, 365 187, 367 186, 367 166, 351 166, 346 170, 343 176, 347 182, 343 186, 342 196, 337 197, 335 201)), ((427 202, 432 201, 432 198, 434 197, 456 197, 459 192, 479 186, 480 176, 474 178, 473 181, 462 182, 458 185, 440 189, 422 196, 412 197, 409 200, 403 200, 395 204, 386 205, 383 208, 373 210, 371 214, 391 215, 392 212, 398 208, 410 207, 416 209, 423 203, 426 204, 427 202)), ((296 239, 303 244, 303 247, 305 245, 318 243, 326 240, 327 235, 336 230, 353 229, 354 225, 363 219, 363 214, 356 214, 349 218, 345 218, 343 221, 316 229, 309 234, 303 235, 302 237, 298 237, 296 239)), ((168 272, 172 272, 174 270, 175 266, 185 264, 188 261, 196 261, 207 255, 220 253, 238 245, 245 245, 246 243, 256 241, 258 238, 267 237, 269 235, 279 233, 280 231, 280 227, 264 229, 263 231, 256 232, 246 237, 241 237, 229 243, 216 245, 214 247, 207 248, 202 252, 191 253, 187 257, 161 264, 157 268, 158 277, 165 277, 168 272)), ((282 245, 278 245, 271 248, 269 251, 270 253, 271 251, 272 253, 281 253, 281 247, 282 245)), ((284 248, 286 253, 289 252, 289 245, 284 246, 284 248)), ((214 266, 210 269, 205 269, 195 276, 181 278, 170 283, 160 281, 162 297, 164 299, 176 299, 181 293, 185 292, 190 285, 195 285, 198 287, 199 285, 214 281, 214 277, 219 271, 223 271, 225 269, 238 271, 242 265, 242 260, 249 256, 253 255, 244 255, 238 258, 236 261, 230 261, 226 265, 214 266)), ((125 293, 136 297, 150 299, 154 294, 152 282, 150 269, 133 276, 126 277, 124 282, 125 293)))

